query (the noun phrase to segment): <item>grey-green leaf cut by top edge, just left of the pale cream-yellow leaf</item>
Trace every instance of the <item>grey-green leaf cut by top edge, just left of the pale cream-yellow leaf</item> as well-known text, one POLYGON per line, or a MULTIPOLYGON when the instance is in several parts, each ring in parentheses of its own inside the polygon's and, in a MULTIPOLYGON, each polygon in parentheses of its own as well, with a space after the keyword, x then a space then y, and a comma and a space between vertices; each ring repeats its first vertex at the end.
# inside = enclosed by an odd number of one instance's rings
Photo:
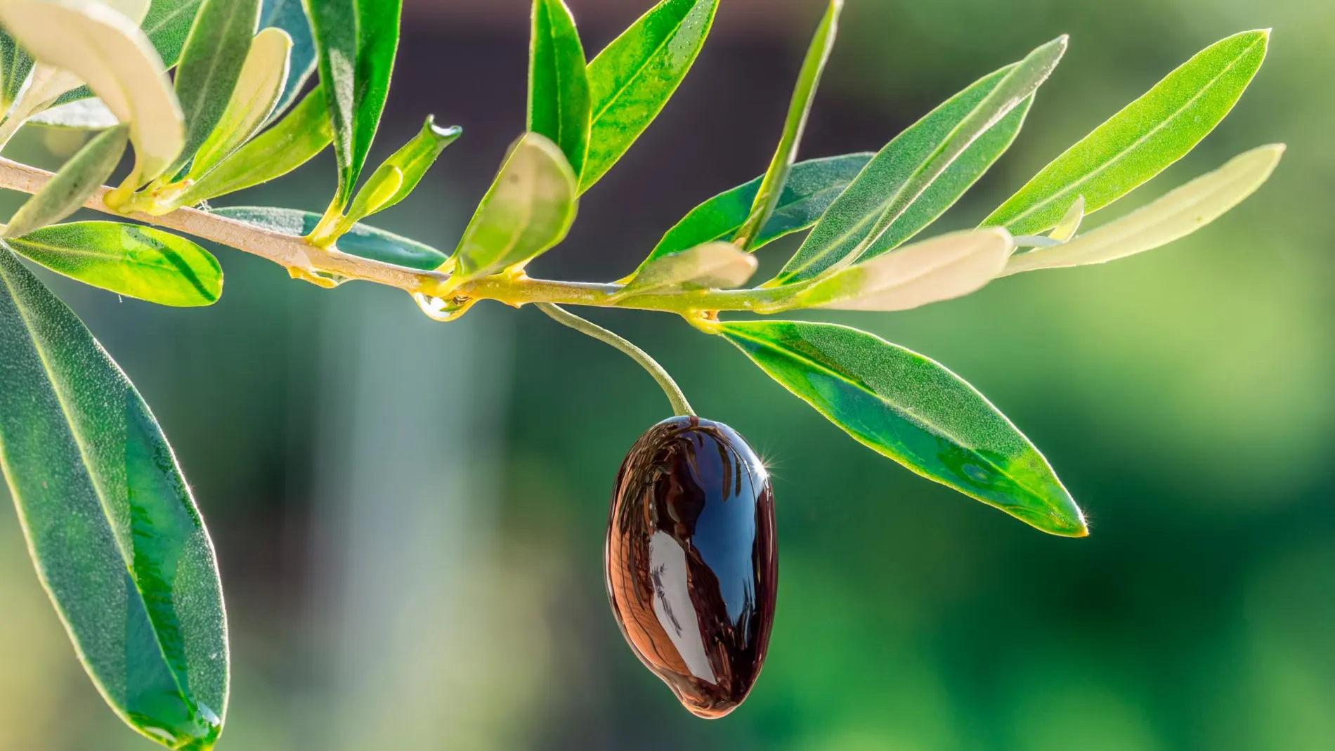
POLYGON ((167 179, 195 157, 223 119, 258 23, 259 0, 204 0, 200 5, 176 68, 175 88, 186 116, 186 145, 167 171, 167 179))

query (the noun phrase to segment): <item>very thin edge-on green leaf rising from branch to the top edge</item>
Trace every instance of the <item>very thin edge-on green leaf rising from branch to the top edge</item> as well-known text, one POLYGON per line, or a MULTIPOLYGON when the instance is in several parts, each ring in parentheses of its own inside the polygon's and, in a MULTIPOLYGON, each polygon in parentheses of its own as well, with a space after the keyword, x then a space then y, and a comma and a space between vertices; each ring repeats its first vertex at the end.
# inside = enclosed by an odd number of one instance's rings
POLYGON ((806 129, 806 116, 812 111, 816 100, 816 88, 821 83, 821 73, 825 71, 825 61, 829 60, 834 48, 834 37, 838 33, 838 16, 844 11, 844 0, 830 0, 821 25, 816 29, 816 37, 806 51, 806 60, 797 76, 797 87, 793 89, 793 99, 788 105, 788 119, 784 121, 784 135, 778 140, 774 159, 769 163, 769 169, 761 181, 756 200, 752 203, 746 221, 737 231, 733 243, 742 249, 750 249, 769 221, 770 215, 778 207, 784 195, 784 185, 788 175, 797 161, 797 147, 802 141, 802 131, 806 129))

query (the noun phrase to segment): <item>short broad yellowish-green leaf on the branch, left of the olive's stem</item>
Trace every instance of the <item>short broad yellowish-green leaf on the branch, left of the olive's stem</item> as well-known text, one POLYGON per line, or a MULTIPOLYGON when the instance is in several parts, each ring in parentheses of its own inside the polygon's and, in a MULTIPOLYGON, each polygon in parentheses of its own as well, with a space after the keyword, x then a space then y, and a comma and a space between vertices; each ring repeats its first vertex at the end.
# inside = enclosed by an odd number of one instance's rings
POLYGON ((510 149, 455 251, 459 281, 523 268, 561 240, 575 220, 578 177, 561 148, 525 133, 510 149))

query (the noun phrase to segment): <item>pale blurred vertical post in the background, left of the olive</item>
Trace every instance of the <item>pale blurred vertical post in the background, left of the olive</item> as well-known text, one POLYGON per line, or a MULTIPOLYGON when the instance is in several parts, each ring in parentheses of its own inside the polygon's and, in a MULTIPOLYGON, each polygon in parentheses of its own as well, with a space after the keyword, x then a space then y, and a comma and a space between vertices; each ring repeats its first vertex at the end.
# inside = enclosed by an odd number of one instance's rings
POLYGON ((335 293, 314 464, 314 746, 485 748, 510 337, 498 319, 442 325, 370 285, 335 293))

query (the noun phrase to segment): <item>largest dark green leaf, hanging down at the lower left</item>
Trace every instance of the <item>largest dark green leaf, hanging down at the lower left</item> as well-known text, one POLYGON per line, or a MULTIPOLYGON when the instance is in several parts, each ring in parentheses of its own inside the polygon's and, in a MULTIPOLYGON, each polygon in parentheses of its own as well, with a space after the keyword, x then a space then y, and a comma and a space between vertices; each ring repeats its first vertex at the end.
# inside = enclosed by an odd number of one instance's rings
POLYGON ((37 575, 111 708, 207 751, 227 710, 214 547, 148 406, 0 243, 0 468, 37 575))

